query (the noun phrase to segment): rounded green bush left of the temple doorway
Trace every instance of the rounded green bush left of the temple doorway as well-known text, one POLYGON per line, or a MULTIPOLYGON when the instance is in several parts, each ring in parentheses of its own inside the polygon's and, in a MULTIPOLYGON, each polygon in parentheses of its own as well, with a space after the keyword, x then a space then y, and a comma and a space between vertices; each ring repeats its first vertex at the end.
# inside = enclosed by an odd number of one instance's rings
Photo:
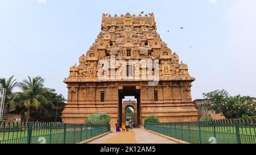
POLYGON ((86 119, 86 123, 109 124, 110 116, 106 113, 92 114, 86 119))

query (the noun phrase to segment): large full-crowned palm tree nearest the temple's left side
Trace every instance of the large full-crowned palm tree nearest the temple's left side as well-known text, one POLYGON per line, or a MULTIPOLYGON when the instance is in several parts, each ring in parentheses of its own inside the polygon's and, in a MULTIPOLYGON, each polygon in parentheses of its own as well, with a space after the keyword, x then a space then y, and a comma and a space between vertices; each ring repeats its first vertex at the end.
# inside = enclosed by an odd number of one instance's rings
POLYGON ((42 77, 23 79, 18 83, 22 92, 14 93, 11 100, 11 107, 20 107, 26 116, 26 123, 30 120, 31 112, 46 111, 46 106, 52 106, 47 100, 47 89, 43 88, 44 79, 42 77))

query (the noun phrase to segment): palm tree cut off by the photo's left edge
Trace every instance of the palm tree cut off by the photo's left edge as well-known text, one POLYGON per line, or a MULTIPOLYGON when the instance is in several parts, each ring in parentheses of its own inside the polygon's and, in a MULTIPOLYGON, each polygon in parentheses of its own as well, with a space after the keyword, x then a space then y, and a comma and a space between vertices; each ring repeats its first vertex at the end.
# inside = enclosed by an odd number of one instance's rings
POLYGON ((13 89, 18 83, 16 82, 16 79, 13 79, 13 77, 14 76, 11 76, 8 79, 0 78, 0 87, 6 89, 5 107, 7 106, 7 108, 3 108, 3 110, 6 110, 4 114, 9 112, 9 103, 13 95, 13 89))

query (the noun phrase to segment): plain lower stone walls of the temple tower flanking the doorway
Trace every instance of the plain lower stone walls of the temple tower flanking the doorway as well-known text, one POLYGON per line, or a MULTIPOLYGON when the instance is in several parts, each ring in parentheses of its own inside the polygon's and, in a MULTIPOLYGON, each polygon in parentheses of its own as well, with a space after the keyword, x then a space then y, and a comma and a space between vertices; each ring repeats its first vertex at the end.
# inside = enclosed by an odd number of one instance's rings
MULTIPOLYGON (((138 103, 141 124, 147 116, 157 116, 160 122, 191 122, 199 119, 195 104, 191 99, 190 82, 159 82, 157 86, 146 86, 142 82, 98 82, 69 85, 68 104, 63 111, 64 123, 84 123, 89 115, 106 112, 111 116, 114 126, 119 119, 118 85, 141 85, 138 103), (94 85, 95 84, 95 85, 94 85), (105 92, 105 100, 101 102, 101 91, 105 92), (158 100, 154 99, 154 91, 158 91, 158 100)), ((121 122, 119 120, 119 122, 121 122)))

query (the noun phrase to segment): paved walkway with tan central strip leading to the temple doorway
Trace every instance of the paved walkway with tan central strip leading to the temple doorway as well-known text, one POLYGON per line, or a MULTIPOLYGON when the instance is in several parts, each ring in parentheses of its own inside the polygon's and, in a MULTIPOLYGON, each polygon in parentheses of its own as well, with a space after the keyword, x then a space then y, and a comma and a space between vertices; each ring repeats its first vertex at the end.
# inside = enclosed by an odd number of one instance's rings
POLYGON ((109 133, 89 144, 175 144, 175 142, 144 129, 134 128, 129 132, 109 133))

